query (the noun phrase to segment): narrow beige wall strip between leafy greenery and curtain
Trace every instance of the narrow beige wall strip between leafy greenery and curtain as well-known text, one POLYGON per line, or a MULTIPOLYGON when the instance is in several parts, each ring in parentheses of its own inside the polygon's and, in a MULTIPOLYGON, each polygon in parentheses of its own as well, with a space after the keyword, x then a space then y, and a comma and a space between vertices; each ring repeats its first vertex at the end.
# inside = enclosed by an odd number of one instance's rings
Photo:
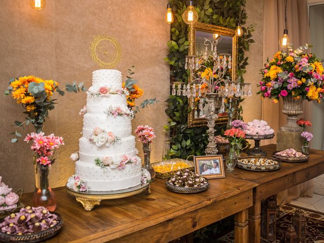
MULTIPOLYGON (((247 26, 249 24, 255 25, 255 31, 252 33, 255 43, 250 46, 250 51, 246 52, 246 56, 249 57, 249 65, 244 74, 244 79, 246 83, 252 84, 253 94, 252 97, 248 97, 242 102, 243 118, 246 122, 261 119, 261 98, 256 95, 258 91, 256 85, 260 82, 259 70, 263 66, 263 7, 263 1, 247 0, 247 26)), ((253 143, 252 140, 250 142, 253 143)))

